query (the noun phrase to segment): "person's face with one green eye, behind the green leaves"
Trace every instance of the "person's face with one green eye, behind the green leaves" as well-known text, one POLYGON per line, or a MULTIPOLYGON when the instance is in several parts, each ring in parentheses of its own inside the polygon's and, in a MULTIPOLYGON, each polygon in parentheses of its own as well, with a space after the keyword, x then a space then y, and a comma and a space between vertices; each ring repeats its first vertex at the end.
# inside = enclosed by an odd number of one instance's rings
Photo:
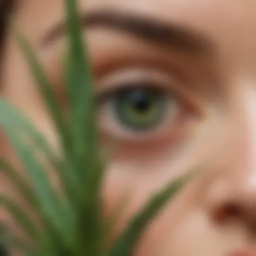
MULTIPOLYGON (((107 95, 99 107, 101 142, 108 137, 118 141, 106 170, 105 212, 131 192, 116 231, 169 180, 203 166, 203 172, 152 221, 135 255, 255 255, 256 2, 79 3, 88 19, 85 35, 96 91, 107 95), (155 29, 147 24, 155 22, 155 29), (113 93, 120 90, 123 93, 113 93), (140 107, 132 108, 134 102, 140 107)), ((13 18, 63 99, 65 34, 54 29, 64 18, 62 1, 21 0, 13 18)), ((10 33, 1 71, 2 95, 57 145, 10 33)), ((6 141, 0 150, 16 162, 6 141)), ((3 177, 0 187, 19 200, 3 177)), ((7 213, 0 217, 11 223, 7 213)))

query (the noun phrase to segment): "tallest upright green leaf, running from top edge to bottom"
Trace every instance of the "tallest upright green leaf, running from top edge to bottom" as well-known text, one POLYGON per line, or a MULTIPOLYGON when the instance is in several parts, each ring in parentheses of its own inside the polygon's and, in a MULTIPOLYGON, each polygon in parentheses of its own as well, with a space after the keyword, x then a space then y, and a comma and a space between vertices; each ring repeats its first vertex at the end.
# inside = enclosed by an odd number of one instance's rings
POLYGON ((99 254, 101 251, 100 184, 102 168, 98 166, 95 100, 86 43, 83 40, 77 1, 65 0, 69 52, 66 88, 70 96, 73 124, 73 154, 77 159, 77 174, 81 177, 78 254, 99 254))

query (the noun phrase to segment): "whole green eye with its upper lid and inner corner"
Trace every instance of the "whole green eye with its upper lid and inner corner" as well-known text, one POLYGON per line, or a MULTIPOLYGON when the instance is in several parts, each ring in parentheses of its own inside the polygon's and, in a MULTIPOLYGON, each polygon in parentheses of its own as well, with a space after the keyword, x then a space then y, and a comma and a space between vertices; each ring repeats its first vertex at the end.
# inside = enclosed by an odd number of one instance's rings
POLYGON ((128 66, 98 83, 100 130, 116 139, 164 139, 199 117, 197 106, 166 71, 128 66))

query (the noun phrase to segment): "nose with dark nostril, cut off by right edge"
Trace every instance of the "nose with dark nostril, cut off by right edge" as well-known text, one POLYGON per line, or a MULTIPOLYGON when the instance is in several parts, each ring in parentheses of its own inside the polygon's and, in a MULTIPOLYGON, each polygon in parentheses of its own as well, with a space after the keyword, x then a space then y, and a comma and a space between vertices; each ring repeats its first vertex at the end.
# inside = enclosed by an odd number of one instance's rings
MULTIPOLYGON (((241 96, 242 94, 240 94, 241 96)), ((236 112, 228 161, 209 188, 209 211, 215 221, 238 220, 256 230, 256 93, 244 90, 236 112)))

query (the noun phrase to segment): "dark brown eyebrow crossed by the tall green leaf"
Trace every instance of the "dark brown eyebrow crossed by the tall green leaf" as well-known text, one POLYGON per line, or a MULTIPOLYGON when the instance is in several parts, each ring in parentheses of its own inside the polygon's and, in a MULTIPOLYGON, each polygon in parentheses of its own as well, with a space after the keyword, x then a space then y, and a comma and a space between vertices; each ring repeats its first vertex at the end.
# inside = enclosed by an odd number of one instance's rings
MULTIPOLYGON (((83 13, 81 19, 82 25, 86 27, 98 26, 120 30, 163 47, 200 54, 211 54, 213 51, 211 40, 198 32, 175 23, 164 23, 138 14, 97 10, 83 13)), ((41 43, 48 45, 64 33, 66 24, 60 22, 44 35, 41 43)))

